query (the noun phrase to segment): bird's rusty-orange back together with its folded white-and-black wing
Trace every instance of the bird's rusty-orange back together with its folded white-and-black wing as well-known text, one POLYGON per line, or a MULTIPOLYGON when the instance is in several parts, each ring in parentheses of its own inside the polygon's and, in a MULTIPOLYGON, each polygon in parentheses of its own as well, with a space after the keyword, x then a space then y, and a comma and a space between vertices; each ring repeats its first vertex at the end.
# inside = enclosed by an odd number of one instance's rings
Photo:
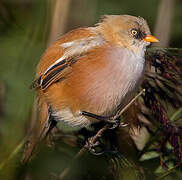
POLYGON ((31 87, 45 90, 52 83, 65 78, 71 71, 71 65, 80 56, 102 44, 102 37, 91 33, 89 28, 77 29, 64 35, 45 52, 38 65, 38 78, 31 87))

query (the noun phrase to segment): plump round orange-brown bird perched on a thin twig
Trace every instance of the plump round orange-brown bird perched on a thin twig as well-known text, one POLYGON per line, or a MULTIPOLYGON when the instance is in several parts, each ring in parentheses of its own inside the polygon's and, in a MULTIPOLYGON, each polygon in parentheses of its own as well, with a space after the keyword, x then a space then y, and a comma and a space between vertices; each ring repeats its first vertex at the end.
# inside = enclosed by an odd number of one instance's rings
POLYGON ((131 15, 104 15, 62 35, 42 55, 32 84, 42 124, 83 128, 114 116, 137 92, 153 42, 146 20, 131 15))

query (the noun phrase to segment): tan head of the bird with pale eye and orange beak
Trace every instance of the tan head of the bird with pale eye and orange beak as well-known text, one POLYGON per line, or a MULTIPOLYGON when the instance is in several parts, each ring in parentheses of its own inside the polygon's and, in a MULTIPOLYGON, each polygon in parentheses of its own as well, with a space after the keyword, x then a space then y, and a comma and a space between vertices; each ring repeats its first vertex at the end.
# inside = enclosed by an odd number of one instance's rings
POLYGON ((97 28, 109 43, 128 48, 135 53, 144 51, 152 42, 159 42, 151 35, 148 24, 142 17, 105 15, 97 28))

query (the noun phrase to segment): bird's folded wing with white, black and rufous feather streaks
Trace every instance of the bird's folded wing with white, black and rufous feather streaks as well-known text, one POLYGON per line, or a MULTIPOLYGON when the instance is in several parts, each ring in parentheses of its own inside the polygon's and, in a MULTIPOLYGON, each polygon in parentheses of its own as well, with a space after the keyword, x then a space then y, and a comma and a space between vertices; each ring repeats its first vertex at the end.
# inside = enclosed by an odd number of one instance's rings
POLYGON ((52 63, 31 85, 31 88, 41 88, 45 90, 52 83, 63 79, 71 70, 71 65, 75 63, 80 56, 87 53, 90 49, 103 45, 103 39, 100 36, 91 36, 77 39, 74 41, 60 44, 59 47, 64 50, 64 54, 52 63))

